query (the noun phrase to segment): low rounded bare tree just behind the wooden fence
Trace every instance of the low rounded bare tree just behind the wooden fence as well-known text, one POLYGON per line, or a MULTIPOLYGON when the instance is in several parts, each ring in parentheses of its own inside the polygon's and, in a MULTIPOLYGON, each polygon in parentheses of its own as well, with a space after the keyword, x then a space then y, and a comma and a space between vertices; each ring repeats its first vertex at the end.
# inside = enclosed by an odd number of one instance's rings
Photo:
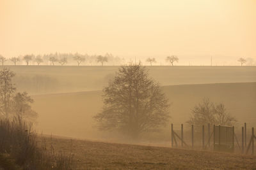
POLYGON ((227 113, 224 104, 214 104, 208 98, 199 103, 192 110, 188 124, 195 124, 196 127, 205 124, 211 125, 233 125, 236 118, 227 113))

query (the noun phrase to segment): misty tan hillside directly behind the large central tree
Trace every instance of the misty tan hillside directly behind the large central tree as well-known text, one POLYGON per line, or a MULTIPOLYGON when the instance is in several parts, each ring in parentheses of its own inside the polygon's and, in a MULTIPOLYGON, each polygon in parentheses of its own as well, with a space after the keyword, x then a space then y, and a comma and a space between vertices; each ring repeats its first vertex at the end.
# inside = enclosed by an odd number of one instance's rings
MULTIPOLYGON (((170 124, 175 127, 188 120, 191 109, 204 97, 225 104, 228 113, 239 121, 237 127, 243 122, 248 123, 248 129, 256 127, 256 83, 171 85, 163 90, 172 103, 170 124)), ((97 131, 92 118, 102 107, 101 95, 101 91, 92 91, 33 96, 33 109, 39 114, 38 131, 74 138, 111 139, 106 132, 97 131)), ((156 138, 169 145, 170 127, 159 135, 156 138)))

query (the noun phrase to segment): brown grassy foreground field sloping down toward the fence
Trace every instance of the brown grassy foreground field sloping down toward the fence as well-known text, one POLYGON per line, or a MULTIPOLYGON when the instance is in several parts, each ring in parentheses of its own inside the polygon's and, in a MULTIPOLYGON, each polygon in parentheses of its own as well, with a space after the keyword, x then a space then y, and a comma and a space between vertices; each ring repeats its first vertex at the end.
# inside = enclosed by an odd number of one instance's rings
POLYGON ((54 150, 73 153, 77 169, 256 169, 256 157, 234 153, 47 138, 54 150))

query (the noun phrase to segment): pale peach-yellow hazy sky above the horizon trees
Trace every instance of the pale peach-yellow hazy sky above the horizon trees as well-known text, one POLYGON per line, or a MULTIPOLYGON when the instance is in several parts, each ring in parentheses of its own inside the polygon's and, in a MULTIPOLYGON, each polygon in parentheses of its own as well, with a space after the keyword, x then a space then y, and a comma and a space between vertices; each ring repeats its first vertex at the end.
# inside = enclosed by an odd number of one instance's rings
POLYGON ((256 61, 256 0, 0 0, 1 55, 55 52, 256 61))

